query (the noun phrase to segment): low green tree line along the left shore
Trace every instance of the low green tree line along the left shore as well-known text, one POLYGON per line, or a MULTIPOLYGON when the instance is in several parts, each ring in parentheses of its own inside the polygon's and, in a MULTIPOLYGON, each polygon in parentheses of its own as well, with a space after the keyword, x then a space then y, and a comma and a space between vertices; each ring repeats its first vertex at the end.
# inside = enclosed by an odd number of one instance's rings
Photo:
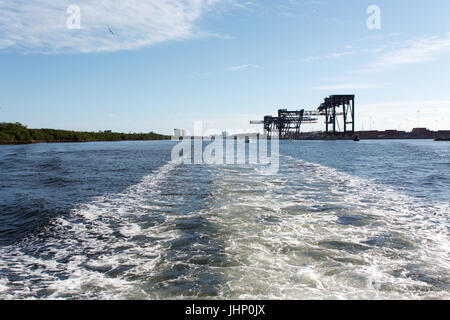
POLYGON ((87 142, 126 140, 166 140, 169 136, 150 133, 117 133, 111 131, 79 132, 55 129, 28 129, 21 123, 0 123, 0 143, 87 142))

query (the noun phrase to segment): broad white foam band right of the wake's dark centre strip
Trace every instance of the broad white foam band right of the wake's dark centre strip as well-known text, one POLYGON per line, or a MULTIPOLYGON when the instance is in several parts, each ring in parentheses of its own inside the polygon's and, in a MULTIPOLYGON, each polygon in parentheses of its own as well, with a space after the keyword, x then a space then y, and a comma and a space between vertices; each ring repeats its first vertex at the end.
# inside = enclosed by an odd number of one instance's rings
POLYGON ((291 157, 281 163, 275 176, 230 167, 215 179, 211 215, 234 261, 222 297, 450 297, 448 203, 291 157))

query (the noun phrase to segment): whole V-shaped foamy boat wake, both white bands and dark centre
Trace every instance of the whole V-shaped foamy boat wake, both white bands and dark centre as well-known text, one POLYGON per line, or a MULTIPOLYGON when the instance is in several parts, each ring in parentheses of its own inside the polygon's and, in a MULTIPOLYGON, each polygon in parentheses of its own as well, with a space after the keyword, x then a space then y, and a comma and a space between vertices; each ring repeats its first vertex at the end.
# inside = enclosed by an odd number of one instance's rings
POLYGON ((168 163, 0 248, 0 297, 449 298, 448 203, 280 163, 168 163))

